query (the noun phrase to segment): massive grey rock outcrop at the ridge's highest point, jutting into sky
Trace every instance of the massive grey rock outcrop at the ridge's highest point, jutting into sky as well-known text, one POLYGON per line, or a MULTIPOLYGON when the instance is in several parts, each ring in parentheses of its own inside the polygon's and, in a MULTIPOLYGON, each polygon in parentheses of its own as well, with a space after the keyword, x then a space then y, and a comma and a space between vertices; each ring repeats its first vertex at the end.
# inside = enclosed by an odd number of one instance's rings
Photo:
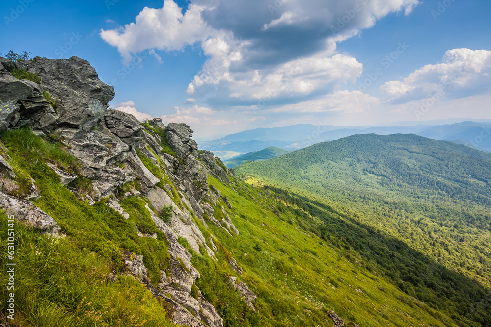
POLYGON ((16 66, 39 76, 56 103, 59 123, 65 126, 84 130, 97 126, 114 98, 114 88, 98 78, 88 61, 76 56, 57 60, 35 57, 16 66))

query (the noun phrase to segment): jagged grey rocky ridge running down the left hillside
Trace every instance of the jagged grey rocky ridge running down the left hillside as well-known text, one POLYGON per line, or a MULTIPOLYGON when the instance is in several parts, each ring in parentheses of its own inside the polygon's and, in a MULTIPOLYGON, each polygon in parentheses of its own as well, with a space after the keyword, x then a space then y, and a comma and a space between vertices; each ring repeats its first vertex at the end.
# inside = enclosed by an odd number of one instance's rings
MULTIPOLYGON (((172 307, 174 323, 223 326, 215 308, 199 291, 196 297, 191 296, 191 286, 200 273, 192 266, 191 253, 178 243, 178 238, 186 239, 192 250, 201 249, 214 258, 219 250, 213 236, 205 239, 196 219, 204 226, 205 221, 210 221, 230 235, 239 234, 223 208, 224 218, 214 216, 216 204, 232 207, 207 182, 210 174, 229 185, 228 176, 232 173, 213 153, 198 150, 189 126, 174 123, 164 126, 161 119, 142 124, 132 115, 108 109, 113 97, 114 89, 104 84, 89 62, 81 58, 36 57, 14 63, 0 57, 0 131, 29 126, 35 134, 58 138, 81 163, 77 174, 91 180, 92 192, 79 194, 69 186, 79 175, 53 164, 49 167, 60 177, 60 183, 81 200, 93 204, 104 199, 128 219, 119 201, 135 196, 148 199, 147 210, 168 240, 170 266, 168 273, 161 271, 159 289, 147 278, 141 255, 122 253, 127 273, 172 307), (40 83, 15 78, 10 73, 13 69, 39 76, 40 83), (160 168, 160 173, 152 167, 160 168), (171 208, 166 222, 160 217, 165 207, 171 208)), ((29 201, 39 197, 34 183, 26 199, 9 195, 16 187, 16 176, 8 163, 8 154, 5 151, 1 154, 0 207, 43 233, 62 235, 55 220, 29 201)), ((143 233, 140 236, 156 237, 143 233)), ((233 258, 229 263, 242 274, 233 258)), ((111 280, 115 278, 111 276, 111 280)), ((254 293, 245 283, 236 284, 237 277, 232 279, 234 287, 246 295, 247 304, 253 307, 254 293)))

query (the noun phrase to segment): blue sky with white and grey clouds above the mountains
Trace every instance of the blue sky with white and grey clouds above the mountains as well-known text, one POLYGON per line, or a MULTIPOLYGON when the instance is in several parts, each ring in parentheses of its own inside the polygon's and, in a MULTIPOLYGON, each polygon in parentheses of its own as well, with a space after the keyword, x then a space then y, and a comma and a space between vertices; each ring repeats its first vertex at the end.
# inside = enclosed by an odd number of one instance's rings
POLYGON ((78 56, 140 120, 257 127, 491 118, 489 0, 4 0, 0 53, 78 56))

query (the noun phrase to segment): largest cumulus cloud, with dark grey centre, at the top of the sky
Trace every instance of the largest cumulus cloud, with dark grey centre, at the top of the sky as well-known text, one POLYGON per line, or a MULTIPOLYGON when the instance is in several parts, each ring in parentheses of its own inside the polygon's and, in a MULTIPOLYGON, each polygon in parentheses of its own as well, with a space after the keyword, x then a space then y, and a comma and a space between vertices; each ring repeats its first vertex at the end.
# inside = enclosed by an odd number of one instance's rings
POLYGON ((189 84, 188 94, 209 103, 232 99, 234 105, 253 105, 263 97, 332 93, 340 83, 354 81, 362 65, 337 53, 336 44, 388 14, 408 15, 418 4, 418 0, 192 0, 183 10, 165 0, 160 9, 145 7, 135 23, 102 30, 101 37, 126 61, 143 50, 183 50, 199 44, 207 60, 189 84), (299 63, 304 66, 297 70, 299 63))

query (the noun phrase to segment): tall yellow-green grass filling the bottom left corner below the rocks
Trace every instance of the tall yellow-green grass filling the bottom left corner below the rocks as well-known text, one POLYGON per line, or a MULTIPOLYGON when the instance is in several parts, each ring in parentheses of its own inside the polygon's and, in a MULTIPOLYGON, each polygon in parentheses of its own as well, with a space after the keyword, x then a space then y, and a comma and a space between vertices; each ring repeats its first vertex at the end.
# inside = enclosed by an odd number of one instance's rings
MULTIPOLYGON (((7 219, 0 213, 0 249, 6 248, 7 219)), ((16 326, 174 326, 161 304, 132 277, 109 283, 111 262, 81 249, 73 240, 47 238, 28 226, 15 225, 16 326)), ((5 251, 0 278, 8 279, 5 251)), ((7 301, 0 286, 0 305, 7 301)), ((0 322, 7 322, 2 312, 0 322)), ((10 322, 10 321, 9 321, 10 322)))

